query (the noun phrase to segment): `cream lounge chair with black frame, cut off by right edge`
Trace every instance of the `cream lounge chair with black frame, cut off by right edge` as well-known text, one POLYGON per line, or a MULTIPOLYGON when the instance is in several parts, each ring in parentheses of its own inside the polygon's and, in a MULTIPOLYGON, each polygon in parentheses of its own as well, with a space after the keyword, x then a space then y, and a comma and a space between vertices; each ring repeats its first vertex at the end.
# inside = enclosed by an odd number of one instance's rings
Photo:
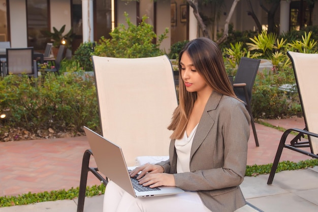
POLYGON ((287 55, 292 60, 305 126, 303 130, 292 128, 282 134, 267 184, 273 183, 283 148, 318 159, 318 101, 316 99, 318 54, 288 51, 287 55), (288 144, 287 139, 291 133, 297 133, 297 135, 293 136, 288 144), (308 140, 301 141, 305 135, 308 140), (309 150, 307 150, 308 147, 309 150))

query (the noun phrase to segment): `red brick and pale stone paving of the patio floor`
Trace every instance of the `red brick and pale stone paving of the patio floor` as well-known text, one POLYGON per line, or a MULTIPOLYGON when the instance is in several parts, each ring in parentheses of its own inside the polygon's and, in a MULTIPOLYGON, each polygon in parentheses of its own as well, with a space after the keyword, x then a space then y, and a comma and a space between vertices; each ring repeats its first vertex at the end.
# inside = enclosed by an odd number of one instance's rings
MULTIPOLYGON (((285 129, 304 128, 302 118, 264 120, 285 129)), ((260 146, 251 132, 248 141, 248 165, 272 163, 282 135, 281 131, 256 124, 260 146)), ((0 142, 0 196, 16 196, 79 186, 82 156, 89 148, 85 136, 44 140, 0 142)), ((284 149, 280 161, 307 160, 310 157, 284 149)), ((91 159, 92 165, 94 160, 91 159)), ((250 203, 264 211, 318 211, 317 168, 283 171, 267 185, 268 174, 245 177, 242 191, 250 203)), ((100 185, 91 173, 88 186, 100 185)), ((103 195, 87 198, 84 211, 102 211, 103 195)), ((3 207, 7 211, 76 211, 77 199, 3 207), (63 209, 61 209, 63 208, 63 209)))

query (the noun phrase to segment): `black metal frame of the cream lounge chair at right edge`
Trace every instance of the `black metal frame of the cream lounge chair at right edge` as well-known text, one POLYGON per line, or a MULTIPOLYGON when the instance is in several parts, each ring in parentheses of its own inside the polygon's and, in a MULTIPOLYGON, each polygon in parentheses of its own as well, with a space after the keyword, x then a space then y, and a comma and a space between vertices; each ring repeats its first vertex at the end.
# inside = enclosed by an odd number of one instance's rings
MULTIPOLYGON (((294 74, 296 76, 295 79, 296 79, 296 84, 297 84, 297 88, 298 88, 298 94, 299 94, 301 106, 302 106, 302 109, 303 109, 304 107, 303 107, 303 102, 302 102, 302 98, 301 98, 301 94, 300 94, 300 88, 299 88, 299 83, 298 83, 298 79, 297 79, 296 67, 295 67, 295 64, 294 64, 294 60, 293 60, 293 57, 292 57, 292 55, 290 54, 289 51, 287 52, 287 55, 292 60, 293 70, 294 70, 294 74)), ((304 109, 303 109, 303 113, 304 113, 304 109)), ((276 152, 276 155, 275 155, 275 159, 274 159, 274 162, 273 162, 273 166, 271 168, 271 171, 270 171, 270 174, 269 174, 269 177, 268 177, 268 180, 267 180, 267 184, 268 185, 273 183, 273 179, 274 179, 274 176, 275 176, 275 173, 276 173, 276 169, 277 169, 277 166, 278 166, 279 159, 280 159, 280 156, 282 154, 283 148, 288 148, 288 149, 294 150, 295 152, 298 152, 298 153, 301 153, 303 155, 309 156, 311 158, 318 159, 318 155, 313 153, 313 148, 312 148, 312 145, 311 145, 311 142, 310 142, 310 136, 318 138, 318 134, 313 133, 313 132, 309 132, 307 130, 308 128, 307 128, 307 121, 306 121, 306 116, 305 115, 304 115, 304 120, 305 120, 305 128, 303 130, 297 129, 297 128, 292 128, 292 129, 286 130, 282 134, 282 136, 280 138, 280 141, 279 141, 278 148, 277 148, 277 152, 276 152), (296 132, 298 134, 293 139, 291 139, 290 144, 287 144, 286 143, 287 142, 287 137, 292 132, 296 132), (309 137, 309 139, 302 142, 301 138, 304 138, 305 135, 307 135, 309 137), (306 151, 304 149, 301 149, 301 148, 306 148, 306 147, 310 148, 310 152, 308 152, 308 151, 306 151)))

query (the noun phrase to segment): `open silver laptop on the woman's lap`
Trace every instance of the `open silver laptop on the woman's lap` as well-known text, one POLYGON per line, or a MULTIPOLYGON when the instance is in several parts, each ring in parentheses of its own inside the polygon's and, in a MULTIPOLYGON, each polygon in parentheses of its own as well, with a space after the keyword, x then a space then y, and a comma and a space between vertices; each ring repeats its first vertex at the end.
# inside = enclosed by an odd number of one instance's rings
POLYGON ((170 186, 157 187, 156 189, 143 187, 142 189, 149 189, 150 191, 138 191, 140 189, 134 188, 133 186, 134 179, 129 175, 128 167, 126 166, 120 146, 87 127, 84 127, 84 131, 99 171, 133 197, 163 196, 184 192, 178 187, 170 186))

